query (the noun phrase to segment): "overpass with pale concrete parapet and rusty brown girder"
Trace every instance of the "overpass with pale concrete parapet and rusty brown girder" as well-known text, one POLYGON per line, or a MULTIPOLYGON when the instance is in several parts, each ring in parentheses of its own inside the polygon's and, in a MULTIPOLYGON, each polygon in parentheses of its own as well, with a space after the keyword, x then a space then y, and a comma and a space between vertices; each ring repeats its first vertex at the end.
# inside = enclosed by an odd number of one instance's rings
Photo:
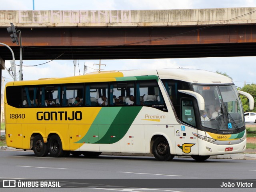
MULTIPOLYGON (((0 10, 0 42, 10 22, 22 31, 24 60, 254 56, 256 8, 188 10, 0 10)), ((10 51, 0 46, 2 60, 10 51)), ((3 63, 3 62, 2 62, 3 63)))

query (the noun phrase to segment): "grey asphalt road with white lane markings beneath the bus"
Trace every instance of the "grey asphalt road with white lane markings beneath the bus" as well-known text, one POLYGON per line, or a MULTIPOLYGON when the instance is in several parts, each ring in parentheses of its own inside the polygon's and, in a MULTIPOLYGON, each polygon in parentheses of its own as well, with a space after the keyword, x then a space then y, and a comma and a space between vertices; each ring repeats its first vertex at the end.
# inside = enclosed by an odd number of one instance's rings
MULTIPOLYGON (((85 158, 84 156, 67 158, 36 157, 33 152, 0 150, 0 179, 157 179, 181 180, 196 179, 256 179, 255 160, 220 160, 208 159, 196 162, 192 158, 174 158, 170 162, 159 162, 153 157, 131 156, 99 156, 85 158)), ((152 180, 153 179, 153 180, 152 180)), ((248 182, 248 181, 247 181, 248 182)), ((203 183, 203 181, 202 181, 203 183)), ((118 183, 117 183, 118 185, 118 183)), ((255 182, 256 185, 256 182, 255 182)), ((124 185, 122 185, 124 186, 124 185)), ((186 183, 184 183, 186 186, 186 183)), ((177 191, 198 192, 204 188, 19 188, 0 189, 1 191, 177 191)), ((255 188, 208 188, 208 192, 218 191, 255 191, 255 188)))

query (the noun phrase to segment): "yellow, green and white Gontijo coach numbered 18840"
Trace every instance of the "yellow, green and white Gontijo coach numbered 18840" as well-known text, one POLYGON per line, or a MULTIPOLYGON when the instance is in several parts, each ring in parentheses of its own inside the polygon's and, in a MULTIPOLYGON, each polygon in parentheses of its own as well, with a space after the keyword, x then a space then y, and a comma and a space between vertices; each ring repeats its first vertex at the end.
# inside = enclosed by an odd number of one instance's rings
MULTIPOLYGON (((253 98, 250 108, 253 108, 253 98)), ((236 86, 204 70, 168 68, 8 82, 6 142, 36 156, 102 152, 157 160, 241 153, 244 112, 236 86), (216 114, 217 113, 217 114, 216 114)))

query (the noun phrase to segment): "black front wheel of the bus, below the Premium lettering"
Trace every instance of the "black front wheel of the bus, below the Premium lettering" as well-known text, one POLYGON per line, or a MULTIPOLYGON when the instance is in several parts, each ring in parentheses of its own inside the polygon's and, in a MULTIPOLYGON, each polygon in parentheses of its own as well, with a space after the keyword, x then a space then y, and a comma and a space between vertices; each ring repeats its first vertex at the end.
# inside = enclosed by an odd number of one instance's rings
POLYGON ((156 138, 153 144, 152 152, 158 161, 170 161, 174 158, 174 155, 172 155, 170 152, 169 144, 164 137, 156 138))

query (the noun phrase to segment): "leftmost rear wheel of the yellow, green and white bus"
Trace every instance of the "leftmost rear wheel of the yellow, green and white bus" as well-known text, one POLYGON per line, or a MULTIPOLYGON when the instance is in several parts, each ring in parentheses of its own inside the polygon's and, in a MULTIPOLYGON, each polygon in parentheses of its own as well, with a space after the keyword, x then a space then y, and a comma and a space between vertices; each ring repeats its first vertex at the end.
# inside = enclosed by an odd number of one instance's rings
POLYGON ((38 157, 44 157, 49 153, 47 144, 44 143, 44 139, 40 135, 35 136, 33 140, 32 148, 33 148, 34 154, 38 157))

